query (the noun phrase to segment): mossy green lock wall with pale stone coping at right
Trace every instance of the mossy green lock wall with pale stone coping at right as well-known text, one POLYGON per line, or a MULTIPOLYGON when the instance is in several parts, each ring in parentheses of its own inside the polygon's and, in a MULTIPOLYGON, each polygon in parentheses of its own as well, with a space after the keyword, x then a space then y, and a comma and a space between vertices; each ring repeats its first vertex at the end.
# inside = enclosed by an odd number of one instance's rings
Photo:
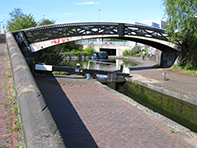
POLYGON ((197 96, 132 77, 119 92, 197 132, 197 96))

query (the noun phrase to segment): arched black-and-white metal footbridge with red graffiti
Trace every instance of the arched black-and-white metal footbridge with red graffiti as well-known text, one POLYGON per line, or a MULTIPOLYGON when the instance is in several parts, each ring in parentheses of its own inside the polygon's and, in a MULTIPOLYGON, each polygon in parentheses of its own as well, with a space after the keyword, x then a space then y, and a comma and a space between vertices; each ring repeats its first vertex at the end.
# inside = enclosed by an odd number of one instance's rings
MULTIPOLYGON (((82 22, 53 24, 23 29, 14 32, 13 35, 19 44, 23 42, 21 46, 25 44, 29 48, 32 46, 36 47, 36 44, 42 44, 42 46, 37 47, 37 50, 67 41, 87 38, 125 39, 153 46, 163 51, 163 53, 173 54, 171 63, 174 62, 177 52, 180 51, 175 44, 171 44, 168 41, 168 35, 165 34, 165 30, 129 23, 82 22)), ((37 50, 32 50, 31 48, 32 52, 37 50)), ((164 57, 169 57, 169 54, 165 54, 164 57)))

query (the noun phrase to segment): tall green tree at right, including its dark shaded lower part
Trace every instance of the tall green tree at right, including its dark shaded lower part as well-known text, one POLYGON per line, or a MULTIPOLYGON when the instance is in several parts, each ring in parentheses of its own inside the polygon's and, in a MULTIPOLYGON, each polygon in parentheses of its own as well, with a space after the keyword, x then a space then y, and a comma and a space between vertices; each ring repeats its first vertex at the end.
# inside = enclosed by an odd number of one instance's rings
POLYGON ((167 16, 167 31, 173 43, 180 43, 182 48, 181 66, 197 67, 197 1, 164 0, 167 16))

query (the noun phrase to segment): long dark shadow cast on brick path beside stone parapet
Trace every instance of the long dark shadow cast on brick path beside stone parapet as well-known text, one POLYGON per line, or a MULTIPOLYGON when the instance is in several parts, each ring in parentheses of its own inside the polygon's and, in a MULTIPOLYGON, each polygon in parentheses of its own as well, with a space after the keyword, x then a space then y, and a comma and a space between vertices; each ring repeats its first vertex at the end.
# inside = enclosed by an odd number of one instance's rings
POLYGON ((38 76, 36 83, 64 139, 65 146, 98 147, 55 77, 49 82, 43 82, 38 76))

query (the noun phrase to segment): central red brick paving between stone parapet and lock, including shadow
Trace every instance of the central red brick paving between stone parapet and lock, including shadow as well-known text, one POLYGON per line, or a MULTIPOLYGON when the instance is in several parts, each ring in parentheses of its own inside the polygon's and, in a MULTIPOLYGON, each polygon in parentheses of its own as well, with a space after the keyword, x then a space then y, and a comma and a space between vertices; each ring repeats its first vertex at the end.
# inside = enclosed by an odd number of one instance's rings
POLYGON ((190 147, 97 86, 37 84, 68 148, 190 147))

